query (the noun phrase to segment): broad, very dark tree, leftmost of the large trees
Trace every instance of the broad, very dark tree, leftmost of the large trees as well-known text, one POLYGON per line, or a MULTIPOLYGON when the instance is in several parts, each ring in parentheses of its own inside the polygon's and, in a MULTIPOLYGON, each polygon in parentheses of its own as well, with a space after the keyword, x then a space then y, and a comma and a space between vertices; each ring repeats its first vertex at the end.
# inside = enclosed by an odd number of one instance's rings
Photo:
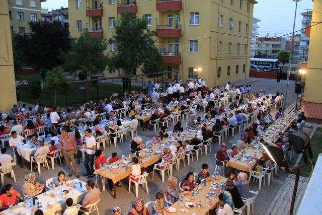
POLYGON ((62 52, 70 48, 68 23, 60 21, 29 22, 30 35, 16 35, 17 46, 30 66, 50 70, 63 63, 62 52))

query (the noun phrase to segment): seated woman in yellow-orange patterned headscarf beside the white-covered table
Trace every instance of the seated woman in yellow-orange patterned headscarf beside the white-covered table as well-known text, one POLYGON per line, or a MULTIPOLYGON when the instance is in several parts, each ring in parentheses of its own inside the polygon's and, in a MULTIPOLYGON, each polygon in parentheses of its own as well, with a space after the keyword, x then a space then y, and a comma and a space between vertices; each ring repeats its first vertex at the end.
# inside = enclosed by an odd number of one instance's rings
POLYGON ((29 197, 34 197, 44 191, 45 185, 39 184, 36 181, 36 174, 35 173, 28 173, 25 176, 25 183, 22 186, 22 191, 24 194, 28 195, 29 197))

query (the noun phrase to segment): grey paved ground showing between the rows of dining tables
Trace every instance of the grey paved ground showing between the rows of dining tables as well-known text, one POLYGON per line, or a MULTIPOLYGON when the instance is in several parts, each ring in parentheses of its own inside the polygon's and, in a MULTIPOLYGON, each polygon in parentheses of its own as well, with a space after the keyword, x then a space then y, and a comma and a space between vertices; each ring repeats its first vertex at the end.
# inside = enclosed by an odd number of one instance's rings
MULTIPOLYGON (((252 88, 253 88, 252 92, 259 91, 261 89, 265 89, 267 93, 275 93, 277 91, 279 91, 279 92, 285 91, 286 81, 282 80, 281 83, 276 83, 276 80, 269 80, 269 79, 256 79, 255 80, 254 79, 253 82, 250 84, 252 85, 252 88)), ((295 88, 295 84, 293 81, 291 81, 290 85, 289 85, 289 96, 286 101, 287 106, 289 106, 295 102, 296 94, 294 94, 294 88, 295 88)), ((197 115, 201 116, 201 115, 203 115, 203 113, 197 111, 197 115)), ((183 124, 185 124, 185 123, 186 123, 186 121, 183 122, 183 124)), ((171 124, 169 130, 172 130, 173 126, 174 125, 171 124)), ((305 130, 305 132, 309 133, 310 130, 309 129, 305 130)), ((157 134, 157 133, 154 133, 154 131, 142 131, 142 129, 140 127, 138 127, 138 136, 142 137, 144 142, 147 140, 150 140, 152 135, 157 134)), ((235 144, 238 137, 239 137, 239 134, 234 135, 233 137, 229 136, 227 139, 224 139, 224 142, 226 143, 228 149, 231 147, 232 144, 235 144)), ((130 153, 130 151, 129 151, 130 141, 131 141, 131 139, 128 138, 124 142, 124 144, 122 144, 122 145, 117 145, 117 147, 114 147, 114 146, 107 147, 105 150, 106 155, 110 157, 112 152, 117 152, 119 154, 119 156, 121 154, 128 155, 130 153)), ((210 168, 209 172, 213 173, 214 168, 215 168, 214 155, 218 151, 218 149, 219 149, 218 143, 213 142, 211 153, 208 152, 207 156, 203 155, 202 158, 199 158, 199 161, 196 161, 194 159, 194 162, 190 163, 190 166, 188 166, 186 163, 185 168, 181 164, 180 171, 176 172, 174 170, 173 175, 178 178, 178 181, 181 181, 188 172, 199 172, 201 170, 201 164, 203 164, 203 163, 207 163, 210 168)), ((292 160, 292 162, 289 162, 289 166, 292 167, 293 164, 294 164, 294 160, 292 160)), ((78 167, 80 169, 81 175, 84 174, 85 173, 84 163, 81 163, 80 165, 78 165, 78 167)), ((8 177, 5 177, 5 182, 6 183, 13 183, 15 185, 15 188, 19 192, 22 192, 21 188, 24 183, 23 178, 27 173, 30 172, 30 170, 27 168, 27 162, 25 162, 25 168, 21 169, 20 167, 15 166, 14 170, 16 173, 17 182, 14 183, 12 181, 12 179, 10 179, 8 177)), ((46 170, 44 168, 42 168, 41 171, 42 171, 41 175, 38 175, 38 173, 36 173, 36 176, 37 176, 37 179, 42 183, 44 183, 48 178, 51 178, 53 176, 57 176, 57 173, 59 171, 68 172, 67 166, 65 164, 63 164, 62 167, 60 167, 58 164, 56 164, 55 169, 54 170, 50 169, 49 172, 48 172, 48 170, 46 170)), ((74 176, 72 177, 72 179, 73 178, 74 178, 74 176)), ((149 187, 149 194, 147 194, 145 192, 145 189, 143 190, 140 187, 139 188, 139 197, 143 198, 145 202, 154 200, 155 194, 157 192, 164 192, 164 190, 167 186, 167 182, 166 182, 167 178, 168 178, 168 176, 166 176, 165 183, 162 183, 162 180, 161 180, 159 174, 157 174, 156 177, 154 176, 154 180, 152 180, 152 178, 150 176, 148 176, 147 182, 148 182, 148 187, 149 187)), ((88 179, 81 176, 81 180, 87 181, 88 179)), ((95 178, 94 178, 94 180, 95 180, 95 178)), ((277 176, 274 175, 273 182, 271 182, 271 185, 269 187, 267 186, 267 183, 266 183, 265 187, 262 186, 262 189, 259 192, 258 198, 255 203, 255 211, 254 211, 255 214, 265 214, 266 212, 269 212, 268 209, 269 209, 271 203, 273 202, 276 194, 279 192, 279 190, 281 189, 283 184, 285 182, 287 182, 287 180, 289 180, 289 174, 286 174, 280 170, 278 172, 277 176)), ((123 184, 122 187, 116 188, 117 189, 117 198, 116 199, 113 198, 113 193, 110 192, 109 190, 102 192, 101 202, 99 203, 100 214, 111 214, 113 206, 116 206, 116 205, 121 207, 122 212, 126 212, 131 207, 131 204, 136 199, 135 193, 134 192, 128 193, 128 185, 125 183, 125 180, 122 181, 122 184, 123 184)), ((106 184, 106 186, 107 186, 107 184, 106 184)), ((251 190, 258 190, 258 183, 251 181, 250 189, 251 190)), ((289 189, 289 187, 283 187, 282 189, 289 189)), ((287 201, 287 198, 285 198, 285 200, 287 201)), ((271 209, 271 211, 274 212, 274 210, 272 210, 272 209, 271 209)), ((271 213, 271 214, 274 214, 274 213, 271 213)))

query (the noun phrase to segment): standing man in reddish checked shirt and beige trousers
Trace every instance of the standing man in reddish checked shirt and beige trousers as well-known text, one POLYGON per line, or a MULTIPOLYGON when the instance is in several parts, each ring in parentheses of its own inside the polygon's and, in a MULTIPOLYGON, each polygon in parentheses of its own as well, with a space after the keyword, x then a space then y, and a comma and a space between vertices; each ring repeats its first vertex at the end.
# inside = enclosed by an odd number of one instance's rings
POLYGON ((64 159, 67 163, 68 177, 72 176, 72 172, 74 170, 76 178, 79 178, 79 170, 74 158, 74 154, 77 154, 75 137, 68 134, 67 128, 64 127, 61 129, 61 134, 62 135, 59 138, 59 155, 60 157, 64 156, 64 159))

